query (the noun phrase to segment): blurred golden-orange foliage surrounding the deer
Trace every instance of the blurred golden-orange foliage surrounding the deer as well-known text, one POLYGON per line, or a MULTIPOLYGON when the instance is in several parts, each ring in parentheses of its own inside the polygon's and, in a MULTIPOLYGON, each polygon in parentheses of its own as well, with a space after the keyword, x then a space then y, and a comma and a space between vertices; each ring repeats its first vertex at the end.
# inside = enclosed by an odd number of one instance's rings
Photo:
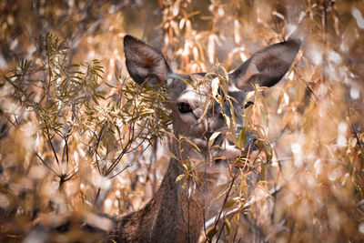
POLYGON ((170 117, 160 92, 128 78, 130 34, 181 73, 301 38, 253 106, 271 154, 219 187, 201 241, 361 242, 363 13, 362 0, 1 1, 0 240, 85 240, 80 218, 134 211, 156 191, 170 117))

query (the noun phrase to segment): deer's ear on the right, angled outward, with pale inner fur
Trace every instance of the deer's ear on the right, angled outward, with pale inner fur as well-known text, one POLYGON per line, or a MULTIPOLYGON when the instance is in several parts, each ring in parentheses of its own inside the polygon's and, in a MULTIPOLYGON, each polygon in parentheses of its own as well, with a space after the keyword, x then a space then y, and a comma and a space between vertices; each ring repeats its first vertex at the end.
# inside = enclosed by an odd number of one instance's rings
POLYGON ((288 72, 300 44, 299 40, 290 39, 259 50, 229 73, 229 78, 244 91, 251 91, 254 84, 274 86, 288 72))

